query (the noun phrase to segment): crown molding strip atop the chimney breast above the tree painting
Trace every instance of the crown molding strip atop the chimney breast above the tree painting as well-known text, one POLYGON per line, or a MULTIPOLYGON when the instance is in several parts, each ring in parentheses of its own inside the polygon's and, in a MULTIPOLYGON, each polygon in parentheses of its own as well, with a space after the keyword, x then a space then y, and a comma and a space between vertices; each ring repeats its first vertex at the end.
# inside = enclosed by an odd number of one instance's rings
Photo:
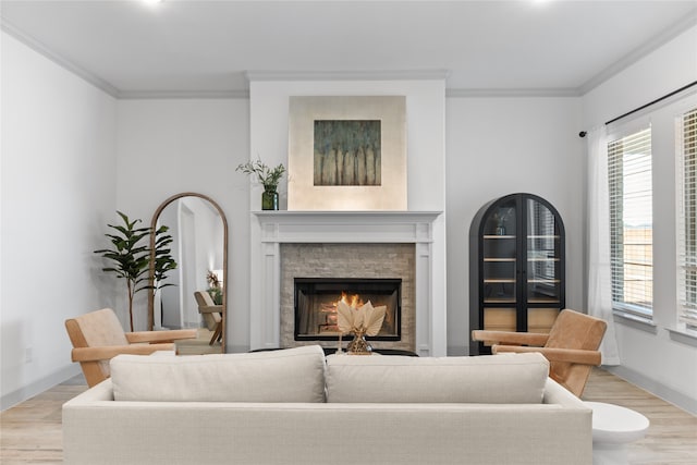
POLYGON ((254 81, 445 81, 448 70, 392 71, 247 71, 247 82, 254 81))

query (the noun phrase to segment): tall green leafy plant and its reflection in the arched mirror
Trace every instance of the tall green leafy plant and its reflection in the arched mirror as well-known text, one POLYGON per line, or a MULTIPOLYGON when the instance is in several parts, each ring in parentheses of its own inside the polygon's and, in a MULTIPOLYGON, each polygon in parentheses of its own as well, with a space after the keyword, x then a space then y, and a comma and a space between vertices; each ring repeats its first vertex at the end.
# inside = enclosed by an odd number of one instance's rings
POLYGON ((117 211, 121 217, 123 224, 107 224, 113 230, 113 234, 105 234, 109 237, 112 248, 102 248, 95 250, 95 254, 101 254, 103 258, 111 260, 111 267, 102 268, 102 271, 113 272, 117 278, 126 281, 129 297, 129 317, 131 320, 131 331, 133 329, 133 297, 139 291, 152 289, 148 285, 148 271, 150 268, 150 248, 148 247, 148 237, 155 234, 155 287, 160 289, 166 285, 163 281, 167 279, 167 272, 176 268, 176 261, 170 255, 169 245, 172 237, 167 234, 167 227, 160 227, 157 231, 150 231, 150 228, 136 228, 142 220, 131 221, 129 217, 121 211, 117 211))

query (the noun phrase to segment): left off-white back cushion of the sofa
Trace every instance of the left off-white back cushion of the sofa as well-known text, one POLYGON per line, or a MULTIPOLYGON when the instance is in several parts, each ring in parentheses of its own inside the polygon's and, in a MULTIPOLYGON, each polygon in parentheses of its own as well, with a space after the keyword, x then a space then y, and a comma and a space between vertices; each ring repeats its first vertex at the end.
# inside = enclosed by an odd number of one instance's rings
POLYGON ((115 401, 325 402, 325 353, 119 355, 111 379, 115 401))

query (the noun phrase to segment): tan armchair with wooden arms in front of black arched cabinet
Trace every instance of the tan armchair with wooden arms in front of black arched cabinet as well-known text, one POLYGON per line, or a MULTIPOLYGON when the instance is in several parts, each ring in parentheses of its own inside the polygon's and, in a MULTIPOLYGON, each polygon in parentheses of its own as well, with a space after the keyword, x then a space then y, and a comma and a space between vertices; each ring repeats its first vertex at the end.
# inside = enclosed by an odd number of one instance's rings
POLYGON ((549 376, 580 397, 592 366, 601 363, 600 342, 608 325, 578 311, 562 310, 549 334, 474 330, 474 341, 492 343, 491 352, 540 352, 550 362, 549 376))

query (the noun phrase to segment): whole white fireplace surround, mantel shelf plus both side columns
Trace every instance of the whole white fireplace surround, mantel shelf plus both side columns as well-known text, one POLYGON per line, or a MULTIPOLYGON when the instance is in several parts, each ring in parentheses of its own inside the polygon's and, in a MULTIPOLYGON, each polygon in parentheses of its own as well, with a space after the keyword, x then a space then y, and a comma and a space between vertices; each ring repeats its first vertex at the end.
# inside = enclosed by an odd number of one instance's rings
POLYGON ((415 244, 416 352, 445 355, 445 247, 440 211, 254 211, 252 350, 280 346, 282 243, 415 244))

